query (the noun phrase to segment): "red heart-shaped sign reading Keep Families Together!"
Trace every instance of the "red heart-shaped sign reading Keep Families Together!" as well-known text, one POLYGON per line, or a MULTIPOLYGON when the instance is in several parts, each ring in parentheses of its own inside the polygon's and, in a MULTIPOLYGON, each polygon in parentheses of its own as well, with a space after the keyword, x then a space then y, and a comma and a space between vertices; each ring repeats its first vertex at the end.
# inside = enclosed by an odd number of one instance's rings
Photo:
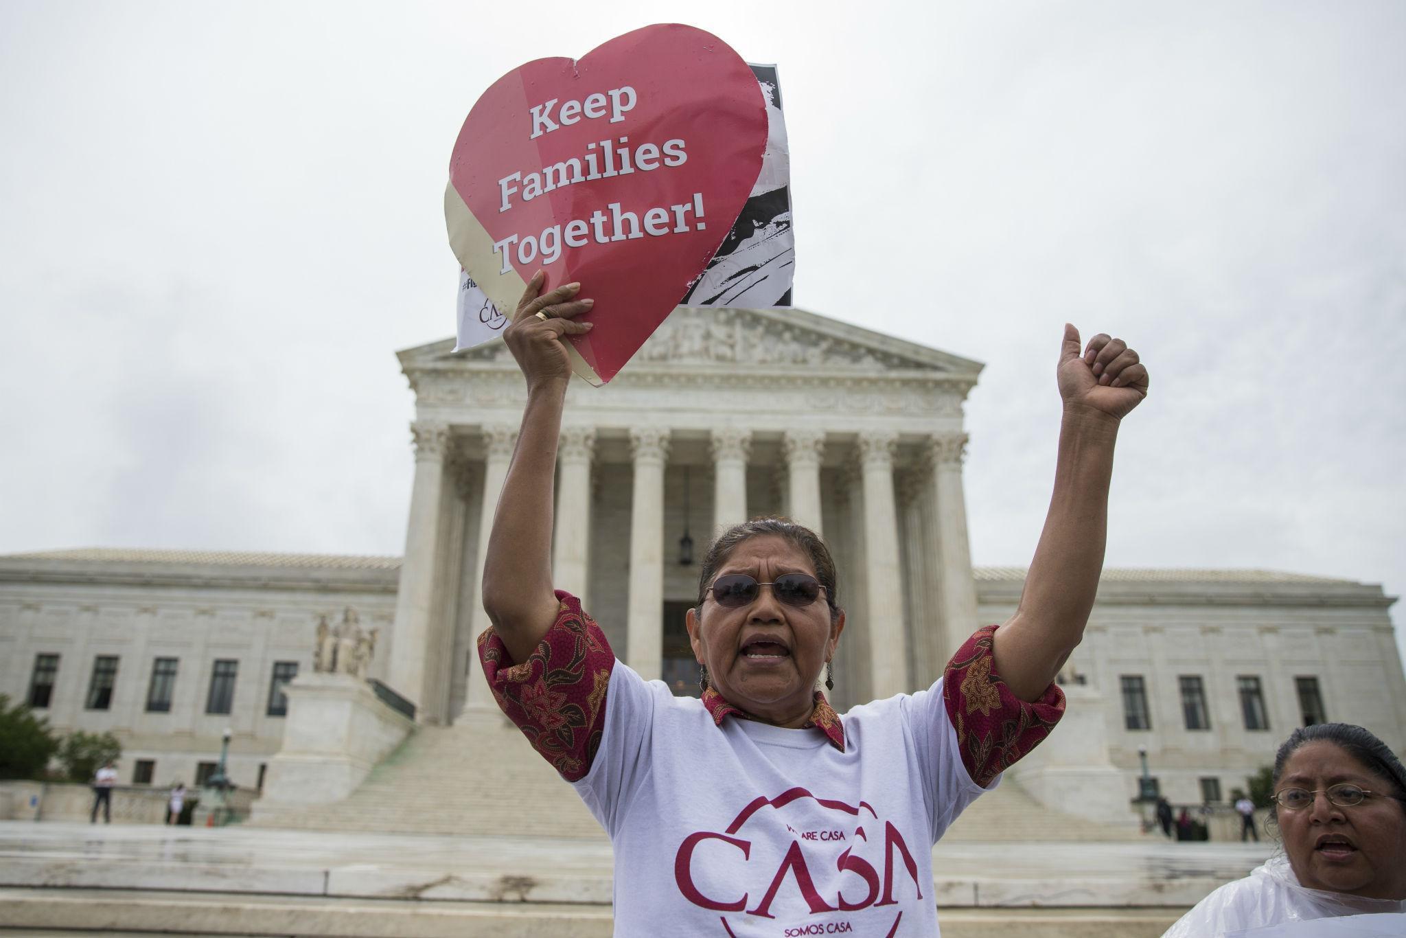
POLYGON ((766 105, 717 37, 651 25, 585 58, 537 59, 464 121, 444 217, 460 264, 502 311, 531 274, 596 301, 571 338, 605 384, 673 311, 742 211, 762 167, 766 105))

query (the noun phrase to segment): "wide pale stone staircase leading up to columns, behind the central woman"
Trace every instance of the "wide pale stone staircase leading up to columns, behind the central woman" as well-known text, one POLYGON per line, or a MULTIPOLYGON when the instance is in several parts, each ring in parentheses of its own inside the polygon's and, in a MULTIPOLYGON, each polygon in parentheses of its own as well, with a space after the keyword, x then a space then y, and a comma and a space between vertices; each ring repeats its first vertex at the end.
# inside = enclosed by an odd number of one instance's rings
MULTIPOLYGON (((270 824, 273 825, 273 824, 270 824)), ((522 734, 494 717, 420 727, 343 802, 280 817, 277 827, 394 834, 605 838, 576 793, 522 734)), ((1007 779, 943 841, 1129 841, 1133 828, 1047 809, 1007 779)))

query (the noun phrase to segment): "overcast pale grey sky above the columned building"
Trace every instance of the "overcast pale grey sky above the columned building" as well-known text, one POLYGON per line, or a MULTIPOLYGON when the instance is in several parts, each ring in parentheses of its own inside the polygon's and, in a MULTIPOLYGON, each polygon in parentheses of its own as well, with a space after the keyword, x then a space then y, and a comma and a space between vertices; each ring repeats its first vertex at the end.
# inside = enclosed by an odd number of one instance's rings
POLYGON ((1070 319, 1152 373, 1109 565, 1406 589, 1399 0, 6 0, 0 553, 401 553, 464 115, 668 20, 780 63, 797 304, 987 363, 977 564, 1035 547, 1070 319))

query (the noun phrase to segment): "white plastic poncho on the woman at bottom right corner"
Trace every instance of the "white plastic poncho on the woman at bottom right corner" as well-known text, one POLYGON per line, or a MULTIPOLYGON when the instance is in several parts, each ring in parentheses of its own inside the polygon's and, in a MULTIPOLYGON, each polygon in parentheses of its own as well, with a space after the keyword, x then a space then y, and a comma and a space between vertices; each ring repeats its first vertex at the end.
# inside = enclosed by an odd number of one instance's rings
MULTIPOLYGON (((1202 899, 1161 938, 1232 938, 1265 925, 1369 913, 1406 915, 1406 901, 1299 886, 1289 858, 1279 855, 1202 899)), ((1406 918, 1402 924, 1406 927, 1406 918)))

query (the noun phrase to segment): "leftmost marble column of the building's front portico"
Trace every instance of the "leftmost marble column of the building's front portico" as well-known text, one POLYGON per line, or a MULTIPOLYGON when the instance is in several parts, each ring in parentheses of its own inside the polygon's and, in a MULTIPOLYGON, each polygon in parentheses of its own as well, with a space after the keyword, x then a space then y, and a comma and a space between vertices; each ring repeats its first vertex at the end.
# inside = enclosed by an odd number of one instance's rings
POLYGON ((405 557, 395 593, 395 638, 391 643, 388 683, 422 712, 429 700, 426 664, 432 645, 434 571, 439 558, 440 501, 444 485, 444 456, 449 428, 441 423, 412 423, 415 440, 415 485, 411 489, 411 518, 405 530, 405 557))

